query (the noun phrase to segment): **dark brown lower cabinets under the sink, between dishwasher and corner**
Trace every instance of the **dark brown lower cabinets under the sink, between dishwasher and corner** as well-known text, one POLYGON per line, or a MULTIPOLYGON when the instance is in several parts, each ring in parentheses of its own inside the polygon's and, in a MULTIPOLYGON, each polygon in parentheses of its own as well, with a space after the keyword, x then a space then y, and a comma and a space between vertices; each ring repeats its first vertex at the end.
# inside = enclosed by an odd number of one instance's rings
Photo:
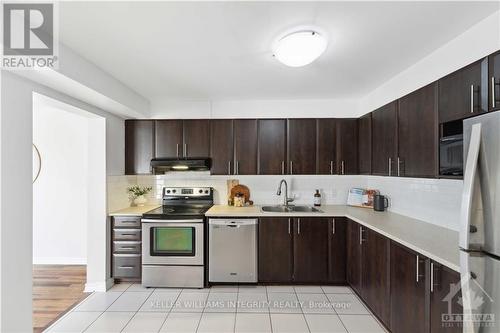
POLYGON ((345 226, 333 237, 331 218, 259 219, 259 282, 345 283, 345 226))

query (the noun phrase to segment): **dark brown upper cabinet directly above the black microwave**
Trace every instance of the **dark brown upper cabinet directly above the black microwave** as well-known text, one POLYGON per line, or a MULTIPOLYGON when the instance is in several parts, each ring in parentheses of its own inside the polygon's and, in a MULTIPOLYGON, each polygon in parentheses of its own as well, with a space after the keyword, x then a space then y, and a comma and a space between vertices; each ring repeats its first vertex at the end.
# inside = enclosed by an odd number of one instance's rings
POLYGON ((439 80, 439 122, 488 110, 488 60, 477 61, 439 80))

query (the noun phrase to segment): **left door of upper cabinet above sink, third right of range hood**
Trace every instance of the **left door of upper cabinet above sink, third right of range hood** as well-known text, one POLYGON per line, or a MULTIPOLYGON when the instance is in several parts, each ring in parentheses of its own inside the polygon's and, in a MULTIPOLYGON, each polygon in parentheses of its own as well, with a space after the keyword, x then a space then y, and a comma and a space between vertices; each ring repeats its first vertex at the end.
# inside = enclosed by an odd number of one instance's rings
POLYGON ((286 120, 259 119, 259 174, 282 175, 286 166, 286 120))

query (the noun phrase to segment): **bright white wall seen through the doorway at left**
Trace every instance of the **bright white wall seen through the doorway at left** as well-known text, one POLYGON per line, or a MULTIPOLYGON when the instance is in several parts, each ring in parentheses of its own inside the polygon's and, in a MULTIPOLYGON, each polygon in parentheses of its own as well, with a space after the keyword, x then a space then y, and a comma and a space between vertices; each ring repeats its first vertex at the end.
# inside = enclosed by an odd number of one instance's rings
POLYGON ((33 263, 87 263, 88 118, 33 103, 33 263))

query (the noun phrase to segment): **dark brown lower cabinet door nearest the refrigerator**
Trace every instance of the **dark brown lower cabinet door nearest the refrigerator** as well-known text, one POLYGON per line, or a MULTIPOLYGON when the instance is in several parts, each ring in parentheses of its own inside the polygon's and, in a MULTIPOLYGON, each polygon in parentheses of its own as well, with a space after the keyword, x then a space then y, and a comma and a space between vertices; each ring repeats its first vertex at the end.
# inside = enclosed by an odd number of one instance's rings
POLYGON ((449 321, 446 315, 463 313, 458 300, 462 296, 459 286, 460 274, 439 263, 430 263, 430 326, 431 333, 461 333, 462 323, 449 321), (432 287, 431 287, 432 284, 432 287))

